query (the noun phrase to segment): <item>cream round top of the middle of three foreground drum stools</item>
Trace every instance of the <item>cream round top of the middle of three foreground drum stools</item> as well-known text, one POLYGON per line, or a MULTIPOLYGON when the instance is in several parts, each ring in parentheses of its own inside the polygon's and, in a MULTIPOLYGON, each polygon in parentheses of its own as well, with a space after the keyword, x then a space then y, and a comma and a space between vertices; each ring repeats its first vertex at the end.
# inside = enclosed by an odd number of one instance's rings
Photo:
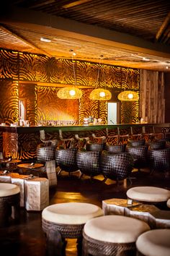
POLYGON ((112 243, 135 242, 140 234, 150 230, 144 221, 126 216, 100 216, 86 222, 84 234, 91 239, 112 243))

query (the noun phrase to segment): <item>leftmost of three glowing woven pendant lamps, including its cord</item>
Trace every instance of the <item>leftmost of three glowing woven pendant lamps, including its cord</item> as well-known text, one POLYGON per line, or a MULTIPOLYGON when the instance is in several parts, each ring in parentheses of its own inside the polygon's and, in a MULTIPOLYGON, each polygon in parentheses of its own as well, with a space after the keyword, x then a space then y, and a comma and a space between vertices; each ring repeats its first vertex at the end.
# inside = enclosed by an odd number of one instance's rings
MULTIPOLYGON (((76 54, 73 52, 73 50, 70 50, 72 52, 72 64, 73 64, 73 56, 76 54)), ((82 91, 76 87, 76 72, 75 72, 75 67, 73 64, 73 75, 74 75, 74 81, 75 81, 75 86, 66 86, 64 88, 61 88, 58 90, 58 98, 61 99, 67 99, 67 100, 76 100, 82 97, 82 91)))

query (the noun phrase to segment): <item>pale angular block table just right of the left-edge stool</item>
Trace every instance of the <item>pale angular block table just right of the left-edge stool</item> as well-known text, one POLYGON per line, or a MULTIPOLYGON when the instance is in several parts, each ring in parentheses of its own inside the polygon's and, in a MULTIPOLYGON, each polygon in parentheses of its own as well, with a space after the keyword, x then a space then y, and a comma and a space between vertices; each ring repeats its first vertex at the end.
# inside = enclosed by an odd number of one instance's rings
POLYGON ((43 210, 49 205, 49 181, 35 177, 24 180, 26 210, 43 210))

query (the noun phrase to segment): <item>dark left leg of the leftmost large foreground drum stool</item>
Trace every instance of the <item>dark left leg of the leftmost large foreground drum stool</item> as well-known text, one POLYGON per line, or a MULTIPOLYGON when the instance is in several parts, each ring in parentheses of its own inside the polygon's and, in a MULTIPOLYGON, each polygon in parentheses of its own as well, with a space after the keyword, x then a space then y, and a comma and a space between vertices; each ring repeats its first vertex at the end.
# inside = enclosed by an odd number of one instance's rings
POLYGON ((63 256, 63 240, 57 230, 50 229, 47 232, 47 254, 48 256, 63 256))

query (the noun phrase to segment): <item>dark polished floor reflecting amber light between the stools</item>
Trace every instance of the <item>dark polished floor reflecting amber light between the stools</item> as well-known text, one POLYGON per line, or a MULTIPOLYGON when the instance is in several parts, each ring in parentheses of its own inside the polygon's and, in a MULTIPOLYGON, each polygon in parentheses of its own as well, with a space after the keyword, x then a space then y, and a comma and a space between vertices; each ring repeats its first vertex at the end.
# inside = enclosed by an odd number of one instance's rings
MULTIPOLYGON (((102 207, 102 200, 109 198, 126 198, 126 191, 136 186, 156 186, 170 189, 170 175, 155 171, 149 174, 148 169, 133 170, 133 184, 127 180, 116 184, 103 176, 97 176, 91 182, 88 176, 79 179, 79 173, 62 171, 58 176, 58 185, 50 189, 50 205, 59 202, 91 202, 102 207)), ((21 209, 19 224, 10 223, 7 228, 0 229, 0 255, 12 256, 44 256, 45 235, 41 228, 41 212, 27 212, 21 209)), ((76 255, 76 240, 68 239, 66 256, 76 255)))

